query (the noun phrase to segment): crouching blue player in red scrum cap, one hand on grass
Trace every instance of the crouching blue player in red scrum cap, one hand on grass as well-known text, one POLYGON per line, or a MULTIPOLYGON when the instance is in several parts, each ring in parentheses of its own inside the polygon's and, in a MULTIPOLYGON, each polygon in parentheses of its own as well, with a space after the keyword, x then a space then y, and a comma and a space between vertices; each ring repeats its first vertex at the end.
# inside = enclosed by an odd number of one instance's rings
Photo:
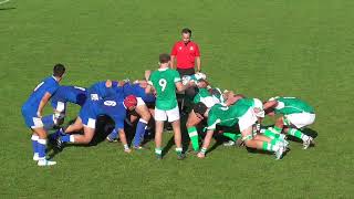
POLYGON ((56 138, 58 148, 62 148, 64 143, 88 144, 95 134, 97 116, 107 115, 115 123, 115 129, 119 133, 121 142, 124 145, 124 151, 131 153, 125 137, 124 119, 126 111, 133 111, 136 104, 137 100, 134 95, 125 97, 123 102, 116 96, 87 101, 81 108, 75 123, 63 129, 64 134, 60 134, 56 138), (71 135, 82 128, 84 129, 84 135, 71 135))

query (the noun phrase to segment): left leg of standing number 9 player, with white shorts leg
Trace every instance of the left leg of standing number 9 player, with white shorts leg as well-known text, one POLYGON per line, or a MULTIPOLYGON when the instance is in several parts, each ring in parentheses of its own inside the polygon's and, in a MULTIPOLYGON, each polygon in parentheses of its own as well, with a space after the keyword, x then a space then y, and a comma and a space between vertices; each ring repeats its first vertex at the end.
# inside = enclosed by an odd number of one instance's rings
POLYGON ((155 108, 155 155, 158 159, 163 158, 163 132, 167 114, 163 109, 155 108))

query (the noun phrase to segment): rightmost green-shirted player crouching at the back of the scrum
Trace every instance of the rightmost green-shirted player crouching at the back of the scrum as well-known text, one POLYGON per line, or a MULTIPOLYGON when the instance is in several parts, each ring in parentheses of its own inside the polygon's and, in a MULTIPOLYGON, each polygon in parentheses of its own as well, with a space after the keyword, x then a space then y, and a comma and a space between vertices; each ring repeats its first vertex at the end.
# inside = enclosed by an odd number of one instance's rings
POLYGON ((303 142, 303 149, 308 149, 314 140, 301 132, 305 126, 314 123, 314 108, 308 103, 295 97, 272 97, 264 104, 264 109, 270 115, 281 114, 272 129, 266 129, 264 134, 281 134, 284 132, 288 135, 294 136, 303 142))

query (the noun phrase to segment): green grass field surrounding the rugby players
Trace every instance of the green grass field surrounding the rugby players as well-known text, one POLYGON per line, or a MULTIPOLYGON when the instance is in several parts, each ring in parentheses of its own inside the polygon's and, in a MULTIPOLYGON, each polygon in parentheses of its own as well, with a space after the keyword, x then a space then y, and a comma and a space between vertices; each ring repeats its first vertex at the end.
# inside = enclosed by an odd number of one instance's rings
MULTIPOLYGON (((353 198, 353 8, 344 0, 0 4, 1 198, 353 198), (65 85, 139 78, 185 27, 214 85, 312 104, 316 146, 302 150, 291 143, 279 161, 223 146, 204 160, 177 161, 173 147, 158 161, 153 149, 127 155, 121 144, 103 142, 65 148, 51 168, 33 163, 21 105, 53 64, 67 66, 65 85)), ((69 118, 77 111, 70 106, 69 118)))

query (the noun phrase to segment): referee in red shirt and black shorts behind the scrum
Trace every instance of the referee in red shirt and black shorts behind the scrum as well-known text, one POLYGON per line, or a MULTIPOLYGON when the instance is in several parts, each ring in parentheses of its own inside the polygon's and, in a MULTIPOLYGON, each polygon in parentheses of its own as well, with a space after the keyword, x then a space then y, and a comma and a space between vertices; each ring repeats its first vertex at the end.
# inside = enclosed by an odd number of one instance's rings
MULTIPOLYGON (((180 77, 185 75, 192 75, 196 73, 195 65, 197 64, 197 72, 201 71, 200 66, 200 52, 197 43, 190 41, 191 30, 181 30, 181 41, 175 43, 170 53, 171 69, 176 69, 180 77), (177 62, 177 64, 176 64, 177 62)), ((197 94, 196 87, 189 87, 185 91, 184 95, 178 95, 178 101, 181 103, 181 111, 189 112, 191 102, 197 94)))

